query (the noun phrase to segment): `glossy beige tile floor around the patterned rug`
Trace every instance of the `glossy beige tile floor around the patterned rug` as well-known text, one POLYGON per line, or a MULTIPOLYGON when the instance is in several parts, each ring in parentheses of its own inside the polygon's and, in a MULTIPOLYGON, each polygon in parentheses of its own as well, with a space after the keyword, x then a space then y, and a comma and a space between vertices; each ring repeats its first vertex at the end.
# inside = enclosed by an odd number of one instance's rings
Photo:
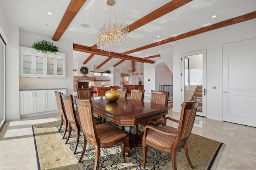
MULTIPOLYGON (((170 109, 167 116, 179 119, 180 113, 170 109)), ((57 120, 55 113, 6 122, 0 132, 0 170, 37 170, 31 126, 57 120)), ((256 128, 196 117, 192 133, 226 144, 217 170, 256 169, 256 128)))

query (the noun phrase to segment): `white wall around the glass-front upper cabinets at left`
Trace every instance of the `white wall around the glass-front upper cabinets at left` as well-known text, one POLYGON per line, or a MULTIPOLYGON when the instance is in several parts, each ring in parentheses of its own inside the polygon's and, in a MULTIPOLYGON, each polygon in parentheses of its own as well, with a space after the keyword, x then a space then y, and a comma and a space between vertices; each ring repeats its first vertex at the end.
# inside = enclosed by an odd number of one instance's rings
MULTIPOLYGON (((48 88, 66 88, 67 94, 73 94, 73 43, 59 40, 53 41, 52 37, 46 37, 39 34, 20 31, 20 46, 31 47, 36 41, 46 40, 59 48, 61 53, 66 53, 66 78, 38 78, 38 77, 20 77, 20 89, 48 89, 48 88), (44 85, 44 87, 42 86, 44 85)), ((80 69, 79 69, 80 71, 80 69)), ((78 72, 79 72, 78 71, 78 72)))

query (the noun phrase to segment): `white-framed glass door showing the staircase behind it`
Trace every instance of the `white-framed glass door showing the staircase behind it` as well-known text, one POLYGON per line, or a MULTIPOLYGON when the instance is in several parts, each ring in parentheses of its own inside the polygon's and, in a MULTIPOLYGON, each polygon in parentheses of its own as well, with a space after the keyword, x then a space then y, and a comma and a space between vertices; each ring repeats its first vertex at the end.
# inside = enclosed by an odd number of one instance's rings
POLYGON ((206 50, 184 53, 181 57, 181 103, 199 98, 196 115, 206 117, 206 50))

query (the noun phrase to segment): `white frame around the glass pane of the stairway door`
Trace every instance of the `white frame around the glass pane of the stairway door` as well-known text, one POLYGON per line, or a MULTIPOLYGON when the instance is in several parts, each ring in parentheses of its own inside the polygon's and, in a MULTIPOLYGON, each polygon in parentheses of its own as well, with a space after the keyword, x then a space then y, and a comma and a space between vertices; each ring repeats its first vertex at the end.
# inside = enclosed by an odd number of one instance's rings
POLYGON ((181 54, 181 103, 180 106, 182 106, 182 102, 185 101, 185 57, 191 56, 191 55, 198 55, 198 54, 202 54, 203 55, 203 91, 205 89, 205 96, 204 96, 204 92, 203 92, 203 113, 197 112, 196 115, 198 116, 203 116, 206 117, 207 115, 207 50, 206 49, 202 49, 199 51, 192 51, 192 52, 188 52, 188 53, 182 53, 181 54))

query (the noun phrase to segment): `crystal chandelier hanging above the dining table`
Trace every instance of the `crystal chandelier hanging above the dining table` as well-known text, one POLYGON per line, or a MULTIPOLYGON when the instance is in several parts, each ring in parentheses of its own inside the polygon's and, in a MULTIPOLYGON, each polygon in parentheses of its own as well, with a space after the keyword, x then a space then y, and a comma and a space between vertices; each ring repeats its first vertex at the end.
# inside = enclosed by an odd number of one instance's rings
POLYGON ((106 11, 104 25, 97 33, 97 48, 109 53, 120 49, 127 40, 129 31, 128 24, 117 22, 114 11, 114 0, 107 0, 108 9, 106 11), (114 21, 112 21, 114 16, 114 21), (107 25, 107 22, 109 23, 107 25))

